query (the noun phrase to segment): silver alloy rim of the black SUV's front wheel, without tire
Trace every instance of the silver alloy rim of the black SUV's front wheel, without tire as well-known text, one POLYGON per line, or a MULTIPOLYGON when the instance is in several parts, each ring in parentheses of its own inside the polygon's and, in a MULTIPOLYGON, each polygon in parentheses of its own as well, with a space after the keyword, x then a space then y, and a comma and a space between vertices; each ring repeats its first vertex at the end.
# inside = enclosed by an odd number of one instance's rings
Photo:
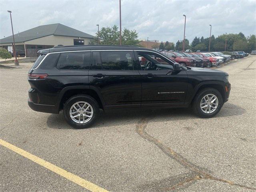
POLYGON ((207 94, 200 102, 200 108, 204 113, 212 113, 218 108, 218 98, 214 94, 207 94))

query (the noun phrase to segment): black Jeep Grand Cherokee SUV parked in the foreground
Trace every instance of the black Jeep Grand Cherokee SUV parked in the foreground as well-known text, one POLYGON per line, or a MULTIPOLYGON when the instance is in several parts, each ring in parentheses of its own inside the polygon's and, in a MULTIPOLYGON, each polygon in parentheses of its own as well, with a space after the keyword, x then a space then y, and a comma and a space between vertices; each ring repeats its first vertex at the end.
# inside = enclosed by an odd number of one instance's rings
POLYGON ((28 105, 40 112, 63 110, 75 128, 92 125, 100 108, 191 105, 209 118, 228 101, 231 88, 226 72, 182 67, 147 48, 57 46, 39 53, 28 73, 28 105))

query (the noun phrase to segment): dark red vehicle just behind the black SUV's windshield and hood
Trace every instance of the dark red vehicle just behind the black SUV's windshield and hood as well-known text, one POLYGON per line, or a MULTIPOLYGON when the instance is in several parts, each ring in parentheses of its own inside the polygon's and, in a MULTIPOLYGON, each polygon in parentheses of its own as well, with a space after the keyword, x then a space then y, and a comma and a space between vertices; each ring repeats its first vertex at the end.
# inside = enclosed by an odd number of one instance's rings
POLYGON ((162 52, 162 54, 173 59, 175 62, 179 63, 181 66, 190 66, 190 67, 196 66, 196 59, 192 57, 184 57, 177 52, 162 52))

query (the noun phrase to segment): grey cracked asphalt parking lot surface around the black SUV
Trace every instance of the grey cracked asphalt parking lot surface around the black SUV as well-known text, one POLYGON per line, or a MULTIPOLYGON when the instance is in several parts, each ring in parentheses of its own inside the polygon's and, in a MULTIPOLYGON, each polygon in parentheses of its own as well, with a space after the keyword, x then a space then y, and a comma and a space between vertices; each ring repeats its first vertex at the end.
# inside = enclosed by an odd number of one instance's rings
POLYGON ((29 108, 31 66, 0 67, 0 191, 88 191, 70 173, 115 192, 256 190, 256 56, 218 68, 232 89, 214 118, 190 109, 115 110, 83 130, 61 113, 29 108))

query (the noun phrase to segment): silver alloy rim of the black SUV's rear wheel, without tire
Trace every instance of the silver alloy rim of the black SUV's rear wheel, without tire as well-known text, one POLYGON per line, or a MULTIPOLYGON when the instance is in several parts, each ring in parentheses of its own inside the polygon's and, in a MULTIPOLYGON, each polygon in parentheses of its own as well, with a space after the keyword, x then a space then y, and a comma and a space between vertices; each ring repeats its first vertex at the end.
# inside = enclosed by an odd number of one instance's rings
POLYGON ((70 118, 79 124, 86 123, 92 119, 92 106, 84 101, 74 103, 69 111, 70 118))

